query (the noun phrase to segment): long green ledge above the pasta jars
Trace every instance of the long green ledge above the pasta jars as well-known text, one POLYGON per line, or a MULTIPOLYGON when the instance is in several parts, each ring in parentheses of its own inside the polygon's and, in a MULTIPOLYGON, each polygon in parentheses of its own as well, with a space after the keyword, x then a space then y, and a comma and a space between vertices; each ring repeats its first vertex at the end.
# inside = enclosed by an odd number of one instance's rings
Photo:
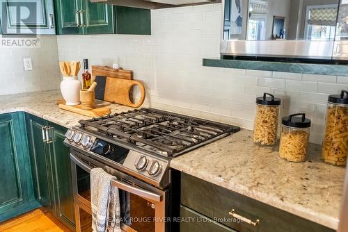
POLYGON ((221 58, 203 58, 203 66, 225 67, 233 69, 253 69, 274 72, 292 72, 299 74, 348 76, 348 65, 282 63, 273 61, 224 60, 221 58))

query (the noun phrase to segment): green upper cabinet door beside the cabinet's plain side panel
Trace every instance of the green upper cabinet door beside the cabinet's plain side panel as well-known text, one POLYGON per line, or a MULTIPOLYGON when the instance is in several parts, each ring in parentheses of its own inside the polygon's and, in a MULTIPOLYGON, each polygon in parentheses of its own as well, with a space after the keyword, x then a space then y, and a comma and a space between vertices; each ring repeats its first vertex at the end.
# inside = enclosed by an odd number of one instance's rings
POLYGON ((81 0, 84 34, 115 33, 115 6, 81 0))

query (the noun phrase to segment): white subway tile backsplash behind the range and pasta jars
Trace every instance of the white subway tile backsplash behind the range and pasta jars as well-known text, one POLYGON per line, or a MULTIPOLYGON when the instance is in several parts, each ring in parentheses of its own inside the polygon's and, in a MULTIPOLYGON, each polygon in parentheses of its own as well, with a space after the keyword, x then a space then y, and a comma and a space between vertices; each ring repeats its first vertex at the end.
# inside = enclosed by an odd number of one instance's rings
POLYGON ((348 78, 203 67, 219 57, 221 4, 152 11, 152 35, 58 36, 60 60, 134 70, 145 82, 145 106, 253 129, 255 97, 283 99, 282 115, 305 112, 311 141, 322 140, 329 94, 348 90, 348 78))

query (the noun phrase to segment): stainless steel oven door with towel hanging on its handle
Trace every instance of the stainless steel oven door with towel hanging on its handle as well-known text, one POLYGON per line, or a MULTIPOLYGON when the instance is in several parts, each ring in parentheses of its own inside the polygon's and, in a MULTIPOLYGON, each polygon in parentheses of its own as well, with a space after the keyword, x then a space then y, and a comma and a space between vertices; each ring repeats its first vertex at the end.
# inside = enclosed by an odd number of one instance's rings
POLYGON ((76 224, 84 225, 83 228, 77 226, 77 231, 90 229, 91 220, 86 216, 86 212, 90 213, 90 169, 93 167, 102 167, 117 178, 111 184, 120 190, 122 231, 168 231, 166 217, 169 216, 169 202, 166 196, 168 196, 169 190, 159 190, 74 151, 70 152, 70 160, 72 162, 75 213, 77 213, 77 220, 79 219, 76 224), (84 215, 81 215, 80 212, 83 212, 84 215), (87 222, 84 222, 84 219, 87 222))

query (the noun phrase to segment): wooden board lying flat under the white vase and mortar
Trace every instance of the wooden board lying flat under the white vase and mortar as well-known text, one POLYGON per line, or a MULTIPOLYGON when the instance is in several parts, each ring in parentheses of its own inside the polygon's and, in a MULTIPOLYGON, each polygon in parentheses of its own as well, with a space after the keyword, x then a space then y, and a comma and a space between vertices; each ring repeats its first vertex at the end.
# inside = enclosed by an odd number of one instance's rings
POLYGON ((65 105, 64 100, 58 100, 57 102, 58 107, 61 108, 62 110, 68 110, 73 113, 78 113, 80 115, 86 115, 89 117, 101 117, 104 115, 109 115, 111 114, 110 108, 106 107, 105 103, 102 102, 95 102, 95 108, 92 110, 84 110, 82 109, 81 104, 77 106, 67 106, 65 105))

